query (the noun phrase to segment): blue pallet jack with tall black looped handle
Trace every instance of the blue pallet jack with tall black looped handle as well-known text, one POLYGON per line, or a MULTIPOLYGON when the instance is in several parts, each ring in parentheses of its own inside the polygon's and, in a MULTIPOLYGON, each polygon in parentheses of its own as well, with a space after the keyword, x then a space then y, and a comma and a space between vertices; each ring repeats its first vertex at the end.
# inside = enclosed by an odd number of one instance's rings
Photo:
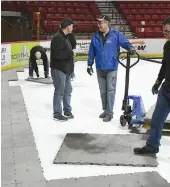
MULTIPOLYGON (((137 60, 131 65, 131 55, 129 52, 121 52, 118 55, 119 63, 126 69, 125 75, 125 93, 122 102, 122 110, 123 114, 120 116, 120 124, 122 127, 128 124, 128 128, 131 129, 134 125, 135 126, 143 126, 145 129, 149 130, 151 125, 151 118, 154 112, 155 104, 151 106, 148 112, 145 111, 145 107, 143 104, 142 97, 140 95, 128 95, 129 90, 129 75, 130 69, 135 66, 139 60, 147 60, 154 63, 161 63, 156 60, 147 59, 140 57, 138 53, 136 53, 137 60), (126 65, 124 65, 121 60, 126 59, 126 65), (129 100, 133 100, 133 106, 129 104, 129 100)), ((136 57, 135 56, 135 57, 136 57)), ((170 131, 170 115, 168 116, 167 120, 165 121, 163 131, 170 131)))

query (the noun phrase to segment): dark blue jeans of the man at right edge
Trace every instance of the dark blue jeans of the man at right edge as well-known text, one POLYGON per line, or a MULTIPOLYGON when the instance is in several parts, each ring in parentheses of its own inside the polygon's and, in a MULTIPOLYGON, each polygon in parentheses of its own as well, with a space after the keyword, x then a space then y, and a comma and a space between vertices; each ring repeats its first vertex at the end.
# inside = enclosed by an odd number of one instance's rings
POLYGON ((168 100, 170 100, 170 94, 168 96, 163 88, 161 88, 158 94, 155 110, 152 115, 150 135, 147 140, 147 145, 156 149, 160 146, 164 122, 170 113, 170 102, 168 100))

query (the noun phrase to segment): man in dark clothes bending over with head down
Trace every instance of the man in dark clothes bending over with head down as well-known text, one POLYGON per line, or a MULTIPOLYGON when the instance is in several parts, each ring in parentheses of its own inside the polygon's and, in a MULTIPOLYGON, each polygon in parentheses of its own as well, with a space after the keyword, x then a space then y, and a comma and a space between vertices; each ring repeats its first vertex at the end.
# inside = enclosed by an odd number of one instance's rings
POLYGON ((46 50, 42 46, 34 46, 30 50, 29 57, 29 78, 33 78, 33 71, 35 71, 36 76, 39 77, 38 65, 37 63, 43 63, 44 66, 44 76, 48 78, 49 75, 49 64, 46 50))

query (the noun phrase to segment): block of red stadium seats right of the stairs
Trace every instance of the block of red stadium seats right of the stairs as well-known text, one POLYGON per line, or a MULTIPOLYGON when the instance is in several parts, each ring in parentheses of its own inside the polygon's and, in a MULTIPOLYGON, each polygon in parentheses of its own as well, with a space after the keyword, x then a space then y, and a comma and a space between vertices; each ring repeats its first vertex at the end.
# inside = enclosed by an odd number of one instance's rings
POLYGON ((117 2, 117 7, 137 37, 163 37, 162 21, 170 15, 169 2, 117 2))

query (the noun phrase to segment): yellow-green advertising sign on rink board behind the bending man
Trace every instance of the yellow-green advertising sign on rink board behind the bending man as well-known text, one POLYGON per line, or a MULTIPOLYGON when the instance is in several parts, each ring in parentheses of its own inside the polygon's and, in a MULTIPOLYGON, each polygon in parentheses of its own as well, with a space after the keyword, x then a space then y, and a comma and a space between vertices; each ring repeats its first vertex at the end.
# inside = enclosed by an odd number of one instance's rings
POLYGON ((12 43, 11 66, 21 66, 28 64, 30 50, 36 45, 40 45, 40 42, 12 43))

